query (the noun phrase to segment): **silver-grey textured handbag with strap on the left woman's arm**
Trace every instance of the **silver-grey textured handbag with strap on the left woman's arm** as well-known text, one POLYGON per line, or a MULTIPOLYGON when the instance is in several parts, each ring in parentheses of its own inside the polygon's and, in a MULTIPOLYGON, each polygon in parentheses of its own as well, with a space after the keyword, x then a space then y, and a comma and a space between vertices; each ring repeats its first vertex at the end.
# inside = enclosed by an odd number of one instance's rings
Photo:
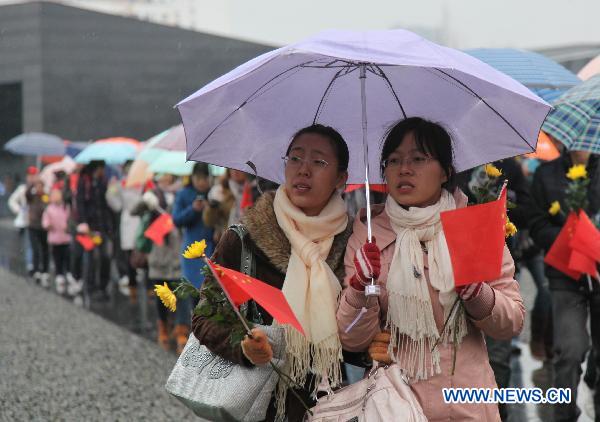
MULTIPOLYGON (((241 270, 244 274, 255 272, 253 255, 244 242, 245 227, 232 226, 242 241, 241 270)), ((260 313, 252 302, 241 309, 254 322, 260 313)), ((283 367, 285 334, 280 326, 257 325, 273 348, 273 363, 283 367)), ((200 344, 194 334, 179 356, 165 386, 166 390, 181 400, 197 416, 214 421, 262 421, 279 380, 270 365, 252 368, 234 364, 212 353, 200 344)))

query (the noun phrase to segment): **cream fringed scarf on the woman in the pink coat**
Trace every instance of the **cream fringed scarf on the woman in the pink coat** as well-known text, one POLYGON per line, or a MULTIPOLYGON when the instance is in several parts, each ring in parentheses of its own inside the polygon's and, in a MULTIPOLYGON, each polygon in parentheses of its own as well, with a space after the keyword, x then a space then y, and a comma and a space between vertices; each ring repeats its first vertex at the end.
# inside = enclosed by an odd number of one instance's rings
POLYGON ((457 295, 440 212, 455 208, 454 198, 445 189, 442 189, 440 200, 429 207, 406 210, 391 196, 388 196, 385 205, 396 232, 396 248, 387 279, 389 305, 386 327, 392 333, 390 352, 397 348, 396 360, 416 380, 441 372, 439 351, 435 348, 431 352, 436 341, 447 343, 455 336, 460 342, 467 333, 464 312, 460 312, 461 308, 457 306, 439 338, 421 248, 423 242, 428 251, 429 282, 440 291, 445 321, 457 295), (456 333, 453 332, 455 322, 458 322, 456 333))

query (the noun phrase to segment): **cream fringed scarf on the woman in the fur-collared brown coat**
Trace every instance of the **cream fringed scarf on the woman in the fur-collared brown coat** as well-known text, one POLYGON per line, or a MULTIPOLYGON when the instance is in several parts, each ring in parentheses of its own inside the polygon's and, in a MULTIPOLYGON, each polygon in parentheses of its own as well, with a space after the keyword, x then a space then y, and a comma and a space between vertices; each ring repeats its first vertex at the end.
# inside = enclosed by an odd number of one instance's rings
MULTIPOLYGON (((275 194, 273 209, 292 247, 281 290, 306 334, 304 337, 286 325, 284 369, 300 385, 304 385, 309 373, 317 378, 315 388, 323 375, 333 386, 339 385, 342 346, 335 313, 341 286, 325 260, 334 236, 348 225, 346 206, 335 193, 318 216, 309 217, 292 204, 281 186, 275 194)), ((279 384, 277 401, 278 406, 283 406, 287 388, 279 384)))

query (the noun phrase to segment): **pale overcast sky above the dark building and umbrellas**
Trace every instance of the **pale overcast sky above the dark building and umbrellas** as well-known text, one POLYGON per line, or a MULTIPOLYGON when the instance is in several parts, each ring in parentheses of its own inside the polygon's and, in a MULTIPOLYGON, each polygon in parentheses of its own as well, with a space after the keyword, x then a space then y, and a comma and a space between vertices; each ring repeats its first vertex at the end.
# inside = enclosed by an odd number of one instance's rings
POLYGON ((214 0, 206 29, 283 45, 323 29, 405 28, 455 48, 600 44, 600 0, 214 0))

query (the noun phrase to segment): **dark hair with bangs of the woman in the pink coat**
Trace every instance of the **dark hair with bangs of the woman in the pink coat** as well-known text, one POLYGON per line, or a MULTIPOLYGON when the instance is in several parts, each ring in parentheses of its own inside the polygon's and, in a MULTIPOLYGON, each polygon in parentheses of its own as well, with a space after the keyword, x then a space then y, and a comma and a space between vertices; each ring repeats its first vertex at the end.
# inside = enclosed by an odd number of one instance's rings
POLYGON ((409 117, 401 120, 388 131, 381 150, 381 177, 384 177, 385 171, 383 163, 402 144, 404 137, 409 133, 412 133, 415 137, 417 149, 435 158, 444 169, 448 181, 442 187, 449 192, 454 191, 456 187, 456 170, 453 164, 452 138, 446 129, 439 124, 420 117, 409 117))

